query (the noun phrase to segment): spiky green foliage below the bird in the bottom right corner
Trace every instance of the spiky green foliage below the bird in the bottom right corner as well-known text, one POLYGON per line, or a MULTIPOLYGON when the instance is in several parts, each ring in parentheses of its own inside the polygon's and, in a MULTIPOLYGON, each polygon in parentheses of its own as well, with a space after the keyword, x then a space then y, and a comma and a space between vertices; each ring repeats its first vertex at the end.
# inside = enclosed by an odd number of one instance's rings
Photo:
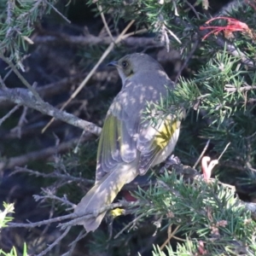
POLYGON ((172 247, 168 254, 155 247, 154 255, 196 255, 201 243, 206 255, 256 253, 256 224, 251 212, 237 201, 233 189, 218 181, 185 183, 175 172, 166 172, 156 186, 140 189, 137 198, 142 202, 137 214, 158 216, 164 224, 161 229, 175 225, 179 227, 175 236, 186 237, 175 253, 172 247))

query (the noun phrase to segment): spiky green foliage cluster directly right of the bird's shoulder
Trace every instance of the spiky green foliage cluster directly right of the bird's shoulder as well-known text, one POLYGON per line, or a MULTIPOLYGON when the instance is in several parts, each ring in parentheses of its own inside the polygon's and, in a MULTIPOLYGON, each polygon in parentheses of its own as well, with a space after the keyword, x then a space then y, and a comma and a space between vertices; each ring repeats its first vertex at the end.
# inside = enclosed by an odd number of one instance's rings
MULTIPOLYGON (((241 58, 219 51, 201 67, 193 79, 180 79, 175 101, 195 108, 207 124, 201 137, 211 139, 220 154, 230 144, 222 160, 233 160, 244 166, 255 161, 256 124, 254 116, 255 72, 241 65, 241 58)), ((192 163, 191 163, 192 164, 192 163)))

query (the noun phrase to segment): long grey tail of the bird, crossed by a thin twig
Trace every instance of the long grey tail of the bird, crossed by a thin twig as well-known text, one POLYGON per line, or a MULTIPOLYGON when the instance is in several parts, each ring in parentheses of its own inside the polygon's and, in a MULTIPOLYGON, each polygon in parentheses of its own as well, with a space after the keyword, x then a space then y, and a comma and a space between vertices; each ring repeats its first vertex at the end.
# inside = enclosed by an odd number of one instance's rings
MULTIPOLYGON (((100 208, 106 207, 112 203, 120 189, 125 183, 130 183, 138 172, 136 165, 120 164, 109 172, 105 177, 97 182, 79 202, 74 212, 83 214, 84 212, 97 212, 100 208)), ((106 212, 100 213, 96 217, 86 218, 78 224, 84 225, 84 229, 94 231, 102 222, 106 212)))

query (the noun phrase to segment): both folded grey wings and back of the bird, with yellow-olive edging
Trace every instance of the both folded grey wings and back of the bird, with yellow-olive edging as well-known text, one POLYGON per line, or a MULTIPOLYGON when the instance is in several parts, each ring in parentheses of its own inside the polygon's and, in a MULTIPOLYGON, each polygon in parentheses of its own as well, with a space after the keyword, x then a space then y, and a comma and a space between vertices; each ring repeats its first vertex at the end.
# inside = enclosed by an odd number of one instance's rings
MULTIPOLYGON (((149 84, 150 80, 149 74, 146 82, 149 84)), ((139 160, 137 172, 144 174, 166 148, 173 131, 179 127, 179 121, 173 116, 172 119, 168 116, 152 126, 143 122, 142 115, 147 102, 157 102, 161 95, 166 94, 165 85, 169 82, 171 81, 165 79, 164 82, 160 81, 160 84, 163 84, 161 88, 148 86, 149 89, 145 89, 143 84, 133 81, 132 86, 125 84, 125 88, 115 97, 102 128, 97 154, 96 182, 120 162, 131 163, 139 160)))

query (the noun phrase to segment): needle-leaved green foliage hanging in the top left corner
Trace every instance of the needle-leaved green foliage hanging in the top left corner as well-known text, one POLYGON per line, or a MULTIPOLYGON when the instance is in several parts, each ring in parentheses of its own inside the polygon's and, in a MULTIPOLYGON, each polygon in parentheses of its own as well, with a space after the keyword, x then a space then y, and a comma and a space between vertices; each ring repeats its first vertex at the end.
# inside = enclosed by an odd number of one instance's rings
POLYGON ((21 53, 26 51, 28 44, 33 44, 29 38, 33 25, 44 14, 49 13, 55 3, 56 0, 1 2, 0 52, 8 53, 10 59, 15 60, 22 70, 21 53))

